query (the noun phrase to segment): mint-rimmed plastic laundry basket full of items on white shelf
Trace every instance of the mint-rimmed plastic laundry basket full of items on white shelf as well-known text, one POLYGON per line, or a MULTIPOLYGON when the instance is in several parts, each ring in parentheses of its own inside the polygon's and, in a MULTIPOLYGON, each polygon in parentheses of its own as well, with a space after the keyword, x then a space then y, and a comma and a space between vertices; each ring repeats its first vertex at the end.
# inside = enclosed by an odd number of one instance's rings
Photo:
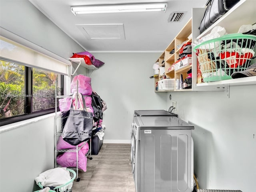
POLYGON ((194 47, 204 82, 231 79, 244 71, 254 56, 255 35, 227 34, 194 47))

